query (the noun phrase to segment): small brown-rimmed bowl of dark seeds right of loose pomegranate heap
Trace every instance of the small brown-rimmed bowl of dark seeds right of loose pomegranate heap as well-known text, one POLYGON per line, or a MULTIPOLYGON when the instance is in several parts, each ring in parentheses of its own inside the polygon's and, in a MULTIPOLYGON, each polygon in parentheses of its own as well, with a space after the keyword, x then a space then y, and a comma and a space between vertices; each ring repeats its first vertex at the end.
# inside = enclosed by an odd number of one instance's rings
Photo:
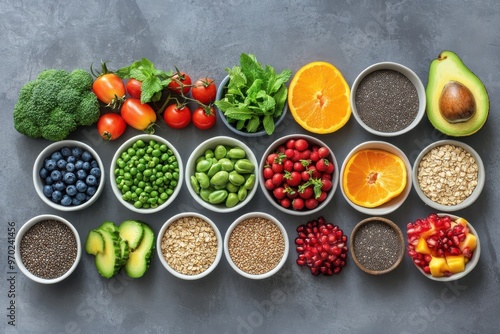
POLYGON ((361 226, 353 241, 353 250, 358 262, 368 270, 380 271, 390 268, 403 251, 396 231, 380 221, 361 226))

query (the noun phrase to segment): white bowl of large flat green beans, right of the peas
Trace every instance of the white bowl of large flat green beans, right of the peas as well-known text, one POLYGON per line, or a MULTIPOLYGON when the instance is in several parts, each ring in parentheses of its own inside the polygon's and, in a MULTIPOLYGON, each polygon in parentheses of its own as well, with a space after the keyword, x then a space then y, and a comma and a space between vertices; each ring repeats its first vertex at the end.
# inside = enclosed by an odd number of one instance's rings
POLYGON ((193 199, 218 213, 251 201, 258 187, 257 159, 242 141, 217 136, 196 147, 186 163, 185 182, 193 199))

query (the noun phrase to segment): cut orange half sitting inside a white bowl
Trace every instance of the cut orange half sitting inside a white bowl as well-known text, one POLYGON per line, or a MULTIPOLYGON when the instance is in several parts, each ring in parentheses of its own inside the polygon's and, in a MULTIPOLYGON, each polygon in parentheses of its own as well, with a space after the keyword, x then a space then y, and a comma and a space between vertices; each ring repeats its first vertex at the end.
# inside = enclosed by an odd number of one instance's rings
POLYGON ((406 187, 406 177, 405 164, 397 155, 363 149, 347 161, 342 187, 354 204, 375 208, 399 196, 406 187))

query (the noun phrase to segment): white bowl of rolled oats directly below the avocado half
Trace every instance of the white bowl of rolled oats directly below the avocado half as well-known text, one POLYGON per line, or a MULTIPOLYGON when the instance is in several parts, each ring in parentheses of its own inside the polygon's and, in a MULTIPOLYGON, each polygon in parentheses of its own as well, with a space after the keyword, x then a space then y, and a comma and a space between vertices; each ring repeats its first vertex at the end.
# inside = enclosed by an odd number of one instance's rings
POLYGON ((485 170, 472 147, 458 140, 440 140, 420 152, 412 177, 425 204, 452 212, 476 201, 484 187, 485 170))

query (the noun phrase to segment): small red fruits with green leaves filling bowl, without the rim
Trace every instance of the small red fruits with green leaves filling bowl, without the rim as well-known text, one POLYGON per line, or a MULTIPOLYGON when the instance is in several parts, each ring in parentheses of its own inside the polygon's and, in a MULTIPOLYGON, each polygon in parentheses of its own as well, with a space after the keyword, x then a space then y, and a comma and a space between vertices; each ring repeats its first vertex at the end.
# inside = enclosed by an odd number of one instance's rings
POLYGON ((289 139, 266 157, 264 185, 284 208, 312 210, 332 189, 330 150, 306 139, 289 139))

